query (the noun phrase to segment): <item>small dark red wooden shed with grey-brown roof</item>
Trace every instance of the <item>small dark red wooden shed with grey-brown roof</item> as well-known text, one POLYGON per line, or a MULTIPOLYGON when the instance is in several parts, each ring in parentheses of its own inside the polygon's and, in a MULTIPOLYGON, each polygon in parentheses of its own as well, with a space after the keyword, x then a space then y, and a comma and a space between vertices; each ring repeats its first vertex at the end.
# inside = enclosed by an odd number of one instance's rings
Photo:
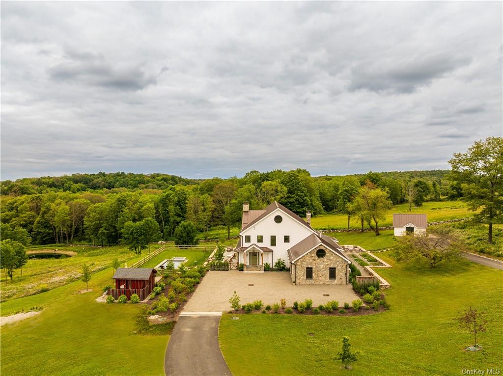
POLYGON ((125 295, 131 299, 131 295, 138 294, 140 300, 145 299, 155 287, 155 274, 152 268, 128 268, 120 267, 115 272, 115 289, 108 289, 107 294, 117 299, 125 295))

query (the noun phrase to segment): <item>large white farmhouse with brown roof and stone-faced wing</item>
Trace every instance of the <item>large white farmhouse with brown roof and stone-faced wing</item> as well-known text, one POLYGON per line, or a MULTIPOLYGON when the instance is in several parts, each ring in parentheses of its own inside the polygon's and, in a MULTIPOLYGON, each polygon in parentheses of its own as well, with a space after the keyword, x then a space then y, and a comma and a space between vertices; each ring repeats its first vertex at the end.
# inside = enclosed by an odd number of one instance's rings
POLYGON ((348 284, 351 261, 336 239, 321 234, 283 205, 274 202, 264 210, 249 210, 243 203, 237 263, 244 272, 264 272, 277 260, 290 268, 292 281, 299 284, 348 284))

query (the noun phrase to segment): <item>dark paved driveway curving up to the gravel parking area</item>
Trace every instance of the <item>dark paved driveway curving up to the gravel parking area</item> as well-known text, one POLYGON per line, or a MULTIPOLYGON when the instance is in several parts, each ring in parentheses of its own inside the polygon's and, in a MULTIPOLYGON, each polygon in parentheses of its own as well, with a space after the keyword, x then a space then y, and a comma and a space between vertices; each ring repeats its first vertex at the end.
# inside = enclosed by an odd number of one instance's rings
POLYGON ((180 316, 164 357, 166 376, 231 376, 218 343, 220 316, 180 316))

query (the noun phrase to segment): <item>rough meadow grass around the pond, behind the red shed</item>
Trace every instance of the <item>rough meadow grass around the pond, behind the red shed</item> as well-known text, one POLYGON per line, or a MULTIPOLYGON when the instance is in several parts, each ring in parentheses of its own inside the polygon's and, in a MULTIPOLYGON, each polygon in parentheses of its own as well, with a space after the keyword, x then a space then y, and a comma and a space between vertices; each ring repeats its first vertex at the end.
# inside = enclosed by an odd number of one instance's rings
POLYGON ((134 252, 123 245, 103 248, 67 247, 64 245, 36 246, 27 250, 30 249, 47 249, 48 251, 59 249, 76 252, 76 255, 66 258, 30 259, 23 267, 23 275, 21 275, 19 269, 14 272, 12 282, 10 278, 6 279, 5 274, 2 273, 0 281, 2 301, 37 294, 43 290, 51 290, 66 285, 79 278, 83 263, 87 263, 92 270, 96 271, 110 266, 112 260, 116 257, 121 262, 135 257, 134 252))

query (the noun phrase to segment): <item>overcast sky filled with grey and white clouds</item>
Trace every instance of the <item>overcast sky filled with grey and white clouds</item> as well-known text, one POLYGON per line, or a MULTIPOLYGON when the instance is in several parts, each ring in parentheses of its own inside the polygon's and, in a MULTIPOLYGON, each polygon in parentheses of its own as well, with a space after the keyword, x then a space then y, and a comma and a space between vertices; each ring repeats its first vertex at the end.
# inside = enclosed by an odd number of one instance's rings
POLYGON ((501 136, 502 3, 2 2, 2 179, 448 168, 501 136))

